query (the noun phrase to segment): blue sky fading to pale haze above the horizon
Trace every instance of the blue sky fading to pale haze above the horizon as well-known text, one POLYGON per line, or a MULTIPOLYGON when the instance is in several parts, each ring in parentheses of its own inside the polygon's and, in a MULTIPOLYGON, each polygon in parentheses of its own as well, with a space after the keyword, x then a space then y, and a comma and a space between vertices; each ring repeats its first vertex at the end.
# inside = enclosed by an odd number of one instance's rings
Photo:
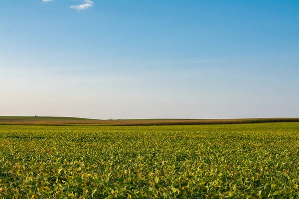
POLYGON ((0 115, 299 117, 298 0, 1 0, 0 115))

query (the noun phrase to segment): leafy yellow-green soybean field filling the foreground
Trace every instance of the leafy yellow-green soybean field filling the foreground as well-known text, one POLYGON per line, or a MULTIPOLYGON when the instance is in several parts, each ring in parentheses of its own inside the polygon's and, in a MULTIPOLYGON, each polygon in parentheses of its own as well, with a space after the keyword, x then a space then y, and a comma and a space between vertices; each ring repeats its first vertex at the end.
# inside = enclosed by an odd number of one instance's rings
POLYGON ((298 198, 299 122, 0 125, 0 198, 298 198))

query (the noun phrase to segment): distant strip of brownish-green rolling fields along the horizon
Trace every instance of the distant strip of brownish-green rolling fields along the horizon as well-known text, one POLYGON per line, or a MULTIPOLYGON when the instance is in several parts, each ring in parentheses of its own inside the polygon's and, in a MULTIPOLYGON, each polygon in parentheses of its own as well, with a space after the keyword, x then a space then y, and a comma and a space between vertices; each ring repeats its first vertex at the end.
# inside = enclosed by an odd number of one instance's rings
POLYGON ((265 122, 299 122, 299 118, 246 118, 246 119, 86 119, 78 117, 22 117, 0 116, 0 124, 13 125, 99 125, 150 126, 194 124, 238 124, 265 122))

